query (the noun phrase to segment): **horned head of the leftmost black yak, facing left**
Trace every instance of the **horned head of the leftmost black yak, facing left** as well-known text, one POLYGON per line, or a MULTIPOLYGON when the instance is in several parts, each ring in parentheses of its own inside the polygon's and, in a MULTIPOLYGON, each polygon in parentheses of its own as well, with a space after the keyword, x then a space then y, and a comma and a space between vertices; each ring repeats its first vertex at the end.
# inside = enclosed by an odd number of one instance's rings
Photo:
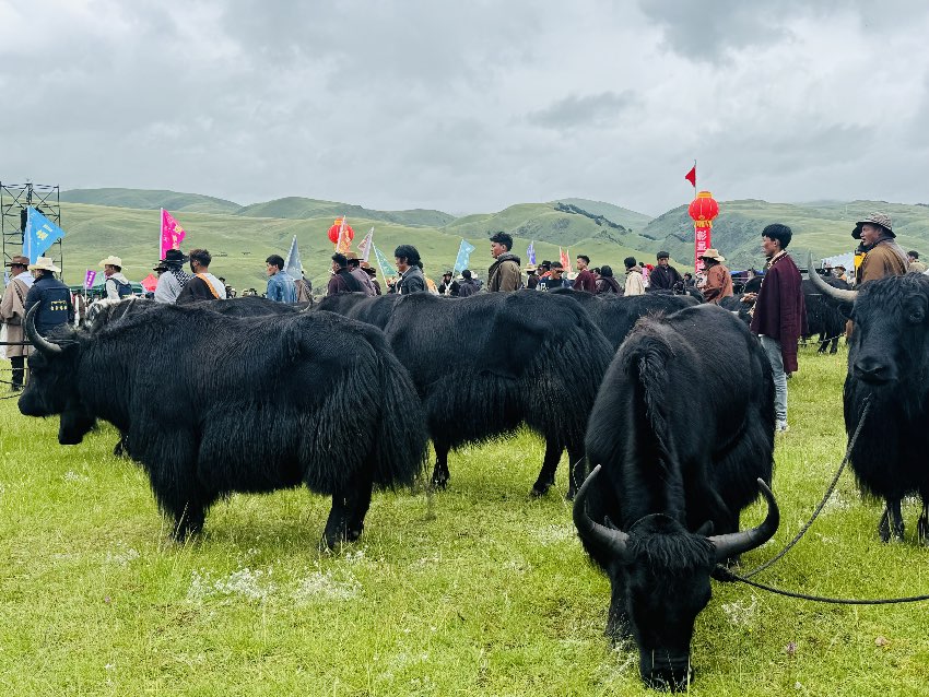
POLYGON ((77 445, 94 426, 78 392, 78 358, 81 344, 73 330, 45 338, 35 328, 34 306, 26 315, 25 330, 36 351, 28 358, 30 379, 20 397, 20 412, 26 416, 61 414, 58 442, 77 445))

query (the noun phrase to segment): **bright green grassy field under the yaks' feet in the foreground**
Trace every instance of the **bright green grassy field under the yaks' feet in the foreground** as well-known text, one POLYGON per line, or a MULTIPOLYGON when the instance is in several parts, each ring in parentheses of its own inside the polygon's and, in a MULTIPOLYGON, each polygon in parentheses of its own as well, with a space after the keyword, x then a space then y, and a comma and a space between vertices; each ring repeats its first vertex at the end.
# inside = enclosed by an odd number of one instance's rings
MULTIPOLYGON (((842 458, 844 361, 801 351, 776 452, 781 527, 745 566, 798 530, 842 458)), ((681 394, 682 407, 696 401, 681 394)), ((178 545, 144 475, 111 457, 111 428, 60 447, 57 420, 27 420, 15 400, 0 402, 0 424, 4 696, 654 694, 634 648, 603 637, 609 583, 575 536, 564 463, 557 492, 528 496, 543 450, 530 434, 455 454, 447 492, 376 495, 362 540, 320 554, 321 497, 233 496, 201 540, 178 545)), ((905 544, 882 545, 880 507, 846 474, 762 578, 839 596, 927 592, 916 513, 908 501, 905 544)), ((926 694, 927 618, 925 604, 854 609, 714 583, 691 694, 926 694)))

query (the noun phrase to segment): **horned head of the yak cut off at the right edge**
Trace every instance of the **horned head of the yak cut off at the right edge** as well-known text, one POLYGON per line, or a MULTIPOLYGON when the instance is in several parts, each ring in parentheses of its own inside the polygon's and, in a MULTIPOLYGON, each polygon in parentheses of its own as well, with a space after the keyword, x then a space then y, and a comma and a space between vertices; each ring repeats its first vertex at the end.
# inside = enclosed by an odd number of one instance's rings
POLYGON ((848 375, 873 392, 919 385, 929 351, 929 277, 921 273, 869 281, 860 291, 833 288, 811 273, 819 291, 842 304, 854 322, 848 375))

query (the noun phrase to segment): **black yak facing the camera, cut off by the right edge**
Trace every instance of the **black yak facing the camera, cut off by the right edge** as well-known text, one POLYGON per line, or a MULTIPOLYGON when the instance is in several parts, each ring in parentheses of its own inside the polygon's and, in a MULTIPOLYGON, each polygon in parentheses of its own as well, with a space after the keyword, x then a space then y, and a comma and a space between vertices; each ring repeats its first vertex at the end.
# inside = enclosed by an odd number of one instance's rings
POLYGON ((929 545, 929 277, 885 276, 859 291, 834 288, 811 276, 820 292, 849 311, 855 323, 845 378, 849 439, 870 397, 871 407, 849 462, 861 491, 885 501, 881 540, 903 540, 901 501, 917 494, 922 510, 917 539, 929 545))

